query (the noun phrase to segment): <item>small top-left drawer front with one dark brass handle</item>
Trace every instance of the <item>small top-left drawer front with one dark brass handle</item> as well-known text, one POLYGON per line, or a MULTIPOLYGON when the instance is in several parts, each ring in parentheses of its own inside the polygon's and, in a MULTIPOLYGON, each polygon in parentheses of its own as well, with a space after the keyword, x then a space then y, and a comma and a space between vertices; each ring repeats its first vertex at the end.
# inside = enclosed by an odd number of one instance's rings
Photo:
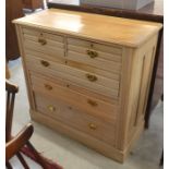
POLYGON ((64 57, 64 38, 60 35, 23 28, 23 38, 25 49, 56 55, 62 50, 64 57))

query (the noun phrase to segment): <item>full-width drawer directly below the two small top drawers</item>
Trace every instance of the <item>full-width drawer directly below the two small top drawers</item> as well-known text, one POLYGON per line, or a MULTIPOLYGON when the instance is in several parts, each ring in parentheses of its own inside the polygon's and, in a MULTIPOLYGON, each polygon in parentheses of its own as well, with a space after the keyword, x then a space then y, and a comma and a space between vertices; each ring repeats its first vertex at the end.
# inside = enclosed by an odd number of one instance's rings
POLYGON ((26 65, 32 71, 38 71, 41 74, 53 77, 61 77, 75 82, 95 93, 106 95, 111 98, 119 97, 119 81, 107 79, 86 71, 74 69, 72 67, 60 64, 53 61, 47 61, 37 57, 29 56, 26 58, 26 65))

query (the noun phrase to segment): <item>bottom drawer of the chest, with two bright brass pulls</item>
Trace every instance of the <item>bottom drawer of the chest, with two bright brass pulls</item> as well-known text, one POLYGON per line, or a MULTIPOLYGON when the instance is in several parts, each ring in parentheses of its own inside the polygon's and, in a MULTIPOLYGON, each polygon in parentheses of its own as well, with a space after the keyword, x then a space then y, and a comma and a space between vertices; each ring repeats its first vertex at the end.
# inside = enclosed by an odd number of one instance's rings
POLYGON ((36 109, 38 112, 61 121, 62 123, 94 136, 110 145, 114 145, 114 125, 64 105, 58 99, 35 93, 36 109))

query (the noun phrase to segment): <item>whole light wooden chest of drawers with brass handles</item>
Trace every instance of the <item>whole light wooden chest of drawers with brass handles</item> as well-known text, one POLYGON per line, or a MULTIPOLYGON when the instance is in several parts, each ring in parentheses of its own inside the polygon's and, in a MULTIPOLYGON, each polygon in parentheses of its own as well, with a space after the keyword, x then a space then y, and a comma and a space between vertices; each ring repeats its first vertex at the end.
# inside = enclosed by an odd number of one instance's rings
POLYGON ((144 126, 161 25, 53 9, 14 23, 32 119, 123 161, 144 126))

